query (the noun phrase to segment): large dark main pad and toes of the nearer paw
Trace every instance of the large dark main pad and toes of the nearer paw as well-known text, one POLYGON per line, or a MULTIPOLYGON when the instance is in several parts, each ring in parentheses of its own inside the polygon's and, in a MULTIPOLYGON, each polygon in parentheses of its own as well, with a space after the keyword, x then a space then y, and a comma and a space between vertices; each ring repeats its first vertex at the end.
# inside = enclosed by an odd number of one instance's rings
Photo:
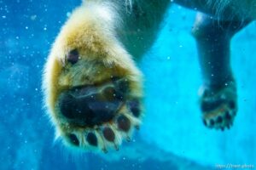
MULTIPOLYGON (((115 80, 119 81, 120 80, 115 80)), ((69 124, 67 144, 79 148, 119 150, 122 139, 131 141, 133 127, 140 125, 139 99, 107 82, 99 87, 72 88, 60 95, 60 116, 69 124)))

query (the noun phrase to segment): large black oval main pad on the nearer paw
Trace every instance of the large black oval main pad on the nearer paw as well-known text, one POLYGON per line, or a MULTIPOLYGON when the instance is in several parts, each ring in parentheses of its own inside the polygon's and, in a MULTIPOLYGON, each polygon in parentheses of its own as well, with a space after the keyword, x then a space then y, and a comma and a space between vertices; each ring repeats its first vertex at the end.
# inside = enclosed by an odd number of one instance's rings
POLYGON ((109 122, 122 104, 113 99, 113 91, 112 87, 107 87, 104 93, 108 95, 104 95, 97 87, 73 88, 60 96, 61 114, 82 126, 94 127, 109 122))

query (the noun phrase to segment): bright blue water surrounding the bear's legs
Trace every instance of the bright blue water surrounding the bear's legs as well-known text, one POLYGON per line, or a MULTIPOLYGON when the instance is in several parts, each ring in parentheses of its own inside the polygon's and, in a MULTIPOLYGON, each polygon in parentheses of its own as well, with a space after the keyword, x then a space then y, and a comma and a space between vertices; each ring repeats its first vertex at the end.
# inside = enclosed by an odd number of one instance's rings
POLYGON ((214 169, 256 166, 256 25, 232 40, 239 112, 229 131, 201 123, 195 12, 168 10, 154 46, 139 64, 145 75, 141 130, 119 152, 74 154, 54 143, 43 109, 41 75, 50 44, 79 0, 0 0, 0 169, 214 169), (175 19, 175 20, 173 20, 175 19))

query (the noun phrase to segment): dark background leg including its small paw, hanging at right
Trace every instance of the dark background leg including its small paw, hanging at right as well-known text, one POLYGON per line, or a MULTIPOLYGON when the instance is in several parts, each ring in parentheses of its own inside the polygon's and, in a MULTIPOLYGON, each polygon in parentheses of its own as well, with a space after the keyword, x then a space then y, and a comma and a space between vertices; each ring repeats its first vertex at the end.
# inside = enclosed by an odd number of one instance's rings
POLYGON ((224 130, 233 124, 237 95, 230 67, 230 40, 248 23, 249 20, 214 20, 201 13, 196 16, 192 32, 203 77, 201 111, 207 127, 224 130))

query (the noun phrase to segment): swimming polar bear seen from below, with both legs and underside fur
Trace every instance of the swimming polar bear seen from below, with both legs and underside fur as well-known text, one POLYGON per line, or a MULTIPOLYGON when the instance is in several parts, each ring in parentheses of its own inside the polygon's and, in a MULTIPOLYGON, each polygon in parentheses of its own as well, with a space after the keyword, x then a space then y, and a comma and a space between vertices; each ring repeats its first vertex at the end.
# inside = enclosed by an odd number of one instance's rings
POLYGON ((79 150, 119 150, 143 118, 136 62, 154 42, 171 3, 198 11, 195 36, 202 120, 230 128, 237 112, 230 39, 256 17, 255 0, 85 0, 56 37, 44 67, 44 97, 56 139, 79 150))

